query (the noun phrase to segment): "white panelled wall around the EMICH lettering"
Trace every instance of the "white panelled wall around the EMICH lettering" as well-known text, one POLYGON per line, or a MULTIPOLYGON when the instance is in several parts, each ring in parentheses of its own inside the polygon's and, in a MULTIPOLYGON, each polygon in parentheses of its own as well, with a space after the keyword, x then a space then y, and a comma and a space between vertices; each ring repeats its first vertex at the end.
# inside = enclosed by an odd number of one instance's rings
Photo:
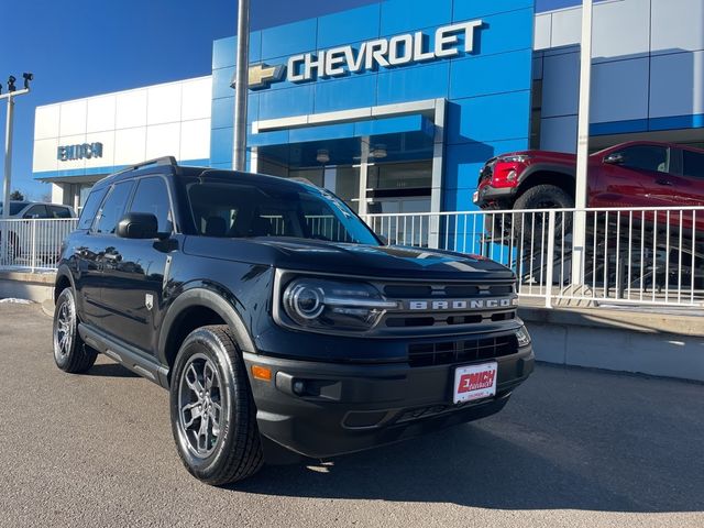
POLYGON ((33 172, 105 167, 172 155, 210 157, 211 78, 37 107, 33 172), (102 157, 62 162, 58 146, 100 142, 102 157))

